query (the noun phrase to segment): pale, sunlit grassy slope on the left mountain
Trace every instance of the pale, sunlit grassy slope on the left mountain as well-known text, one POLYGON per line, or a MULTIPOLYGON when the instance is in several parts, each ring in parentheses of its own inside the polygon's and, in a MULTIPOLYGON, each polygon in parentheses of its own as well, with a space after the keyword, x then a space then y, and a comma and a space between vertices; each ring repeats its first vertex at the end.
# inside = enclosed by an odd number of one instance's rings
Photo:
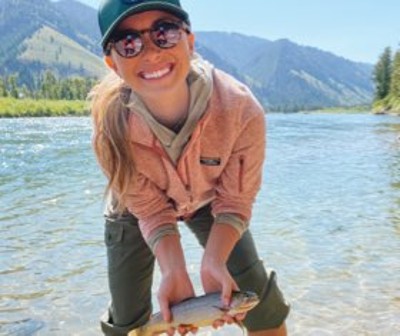
POLYGON ((103 60, 75 41, 44 26, 24 41, 18 60, 39 62, 49 68, 64 67, 70 73, 100 77, 105 72, 103 60))

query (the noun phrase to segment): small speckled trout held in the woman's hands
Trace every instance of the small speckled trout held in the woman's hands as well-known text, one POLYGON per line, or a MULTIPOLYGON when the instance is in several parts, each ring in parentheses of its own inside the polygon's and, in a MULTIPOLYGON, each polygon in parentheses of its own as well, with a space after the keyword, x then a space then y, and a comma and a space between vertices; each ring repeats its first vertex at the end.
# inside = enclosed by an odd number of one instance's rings
POLYGON ((258 302, 257 294, 250 291, 233 292, 228 307, 223 306, 221 293, 204 294, 171 306, 172 322, 165 322, 161 312, 157 312, 145 325, 131 330, 128 336, 152 336, 165 332, 170 327, 178 328, 180 325, 198 328, 211 326, 225 314, 234 316, 250 311, 258 302))

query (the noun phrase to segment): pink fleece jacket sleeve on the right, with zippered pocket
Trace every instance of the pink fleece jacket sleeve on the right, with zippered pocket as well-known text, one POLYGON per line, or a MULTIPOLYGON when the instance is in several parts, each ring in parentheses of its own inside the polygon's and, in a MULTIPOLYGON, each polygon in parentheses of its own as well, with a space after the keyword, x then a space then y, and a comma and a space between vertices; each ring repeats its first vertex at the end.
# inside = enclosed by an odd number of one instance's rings
POLYGON ((264 110, 254 100, 247 101, 243 108, 252 109, 251 116, 239 129, 212 204, 215 222, 231 224, 240 234, 248 227, 252 206, 261 187, 266 143, 264 110))

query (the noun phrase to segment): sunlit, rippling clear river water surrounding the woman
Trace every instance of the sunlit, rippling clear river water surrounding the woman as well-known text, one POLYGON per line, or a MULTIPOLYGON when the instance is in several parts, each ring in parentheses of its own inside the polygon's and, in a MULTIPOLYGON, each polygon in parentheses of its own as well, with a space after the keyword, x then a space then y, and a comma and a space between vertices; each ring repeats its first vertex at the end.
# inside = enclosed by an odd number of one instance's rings
MULTIPOLYGON (((251 228, 291 302, 289 334, 399 335, 400 118, 268 122, 251 228)), ((105 181, 90 120, 2 119, 0 134, 0 335, 99 335, 105 181)), ((201 250, 181 230, 200 294, 201 250)))

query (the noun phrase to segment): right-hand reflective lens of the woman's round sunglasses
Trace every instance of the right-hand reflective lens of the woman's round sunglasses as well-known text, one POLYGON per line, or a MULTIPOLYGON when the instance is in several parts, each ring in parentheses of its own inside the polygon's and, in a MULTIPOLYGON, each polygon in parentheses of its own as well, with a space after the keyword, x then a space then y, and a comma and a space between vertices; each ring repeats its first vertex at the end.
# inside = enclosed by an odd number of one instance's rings
POLYGON ((181 26, 175 22, 158 22, 151 30, 151 38, 160 48, 172 48, 181 39, 181 26))

